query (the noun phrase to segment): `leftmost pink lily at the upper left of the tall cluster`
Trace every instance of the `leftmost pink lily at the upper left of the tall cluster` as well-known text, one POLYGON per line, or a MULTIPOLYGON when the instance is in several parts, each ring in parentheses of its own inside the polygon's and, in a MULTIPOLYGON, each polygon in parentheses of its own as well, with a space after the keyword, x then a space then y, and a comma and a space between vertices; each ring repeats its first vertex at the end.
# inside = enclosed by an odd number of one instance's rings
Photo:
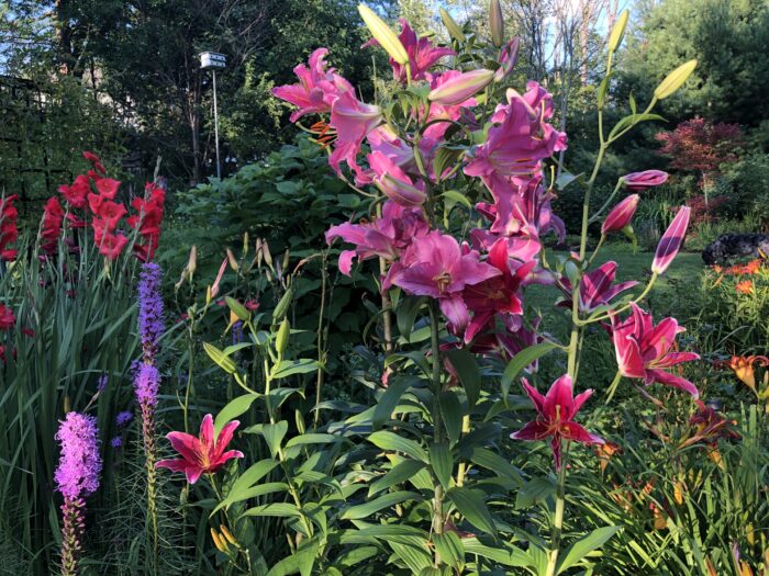
POLYGON ((293 69, 299 77, 298 84, 279 86, 271 90, 274 97, 299 109, 291 114, 291 122, 297 122, 305 114, 331 112, 332 104, 341 93, 354 93, 353 86, 334 74, 334 68, 326 70, 326 48, 317 48, 310 55, 310 68, 300 64, 293 69))

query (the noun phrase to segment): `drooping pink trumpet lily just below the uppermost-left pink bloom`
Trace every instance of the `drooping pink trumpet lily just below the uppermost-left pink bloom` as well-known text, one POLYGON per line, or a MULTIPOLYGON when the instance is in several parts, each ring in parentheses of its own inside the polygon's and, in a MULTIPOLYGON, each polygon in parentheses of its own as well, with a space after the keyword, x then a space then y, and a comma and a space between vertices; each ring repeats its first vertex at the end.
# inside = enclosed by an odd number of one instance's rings
POLYGON ((381 122, 381 109, 360 102, 355 98, 354 92, 344 92, 334 101, 331 106, 330 124, 336 129, 336 142, 328 163, 337 174, 342 173, 339 165, 346 161, 359 182, 369 181, 357 163, 357 156, 364 138, 381 122))

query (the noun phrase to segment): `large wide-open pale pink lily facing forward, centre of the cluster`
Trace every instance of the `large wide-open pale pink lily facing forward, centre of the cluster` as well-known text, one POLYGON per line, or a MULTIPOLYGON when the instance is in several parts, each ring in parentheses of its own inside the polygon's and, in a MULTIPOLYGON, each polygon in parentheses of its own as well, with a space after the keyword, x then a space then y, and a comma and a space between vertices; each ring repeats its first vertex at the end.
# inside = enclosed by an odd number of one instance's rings
POLYGON ((461 297, 466 286, 501 275, 497 268, 479 260, 479 253, 462 249, 457 240, 433 230, 414 241, 395 262, 384 286, 397 285, 408 294, 438 298, 452 329, 459 334, 470 320, 461 297))

